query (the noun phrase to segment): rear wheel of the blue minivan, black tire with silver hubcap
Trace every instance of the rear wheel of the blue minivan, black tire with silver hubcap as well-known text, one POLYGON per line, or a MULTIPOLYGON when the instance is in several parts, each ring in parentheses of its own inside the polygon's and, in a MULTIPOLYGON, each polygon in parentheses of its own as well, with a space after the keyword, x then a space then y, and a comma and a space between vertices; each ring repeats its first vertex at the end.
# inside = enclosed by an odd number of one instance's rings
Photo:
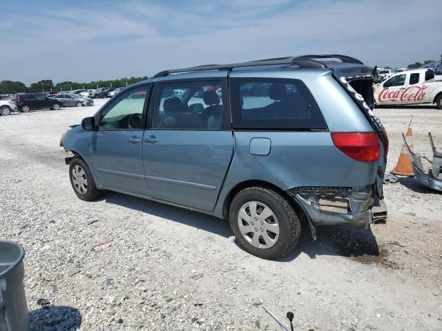
POLYGON ((246 188, 236 194, 229 221, 240 246, 262 259, 278 259, 289 254, 301 232, 294 209, 269 188, 246 188))

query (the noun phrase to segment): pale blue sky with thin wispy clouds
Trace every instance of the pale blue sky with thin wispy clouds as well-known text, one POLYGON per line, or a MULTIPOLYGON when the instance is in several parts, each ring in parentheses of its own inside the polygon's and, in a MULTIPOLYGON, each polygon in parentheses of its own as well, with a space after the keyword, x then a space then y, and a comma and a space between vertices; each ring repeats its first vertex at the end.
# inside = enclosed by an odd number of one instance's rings
POLYGON ((0 81, 88 82, 302 54, 441 59, 441 0, 0 0, 0 81), (9 13, 6 15, 5 13, 9 13), (5 19, 9 17, 9 19, 5 19))

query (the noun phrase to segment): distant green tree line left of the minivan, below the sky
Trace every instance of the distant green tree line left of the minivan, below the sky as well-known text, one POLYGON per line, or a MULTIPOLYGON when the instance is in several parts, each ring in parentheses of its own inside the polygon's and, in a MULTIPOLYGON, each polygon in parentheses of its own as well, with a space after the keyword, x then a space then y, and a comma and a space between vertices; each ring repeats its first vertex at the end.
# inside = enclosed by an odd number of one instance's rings
POLYGON ((148 79, 148 77, 130 77, 122 79, 113 79, 108 81, 91 81, 90 83, 77 83, 75 81, 62 81, 53 83, 52 79, 43 79, 26 86, 21 81, 0 81, 0 94, 14 94, 20 92, 50 92, 50 91, 69 91, 79 90, 80 88, 119 88, 128 86, 137 81, 148 79))

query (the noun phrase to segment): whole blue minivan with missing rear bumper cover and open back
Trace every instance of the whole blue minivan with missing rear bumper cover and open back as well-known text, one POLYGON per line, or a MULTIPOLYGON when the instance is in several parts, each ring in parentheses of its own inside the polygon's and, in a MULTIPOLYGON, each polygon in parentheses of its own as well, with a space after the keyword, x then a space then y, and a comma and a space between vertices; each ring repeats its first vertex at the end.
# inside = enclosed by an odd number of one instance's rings
POLYGON ((166 70, 129 86, 61 137, 75 194, 113 190, 229 219, 265 259, 294 248, 302 219, 314 237, 316 225, 385 222, 387 134, 348 83, 372 74, 323 57, 166 70), (249 83, 269 84, 267 95, 242 94, 249 83), (193 96, 207 86, 203 104, 193 96))

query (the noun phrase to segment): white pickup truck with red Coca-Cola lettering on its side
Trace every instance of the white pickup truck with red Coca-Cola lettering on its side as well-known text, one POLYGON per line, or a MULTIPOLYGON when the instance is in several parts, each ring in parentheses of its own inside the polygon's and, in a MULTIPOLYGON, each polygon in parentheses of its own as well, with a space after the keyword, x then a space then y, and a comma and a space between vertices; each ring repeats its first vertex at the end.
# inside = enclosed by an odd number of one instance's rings
POLYGON ((442 81, 434 79, 431 69, 398 72, 373 86, 376 105, 416 105, 436 103, 442 109, 442 81))

